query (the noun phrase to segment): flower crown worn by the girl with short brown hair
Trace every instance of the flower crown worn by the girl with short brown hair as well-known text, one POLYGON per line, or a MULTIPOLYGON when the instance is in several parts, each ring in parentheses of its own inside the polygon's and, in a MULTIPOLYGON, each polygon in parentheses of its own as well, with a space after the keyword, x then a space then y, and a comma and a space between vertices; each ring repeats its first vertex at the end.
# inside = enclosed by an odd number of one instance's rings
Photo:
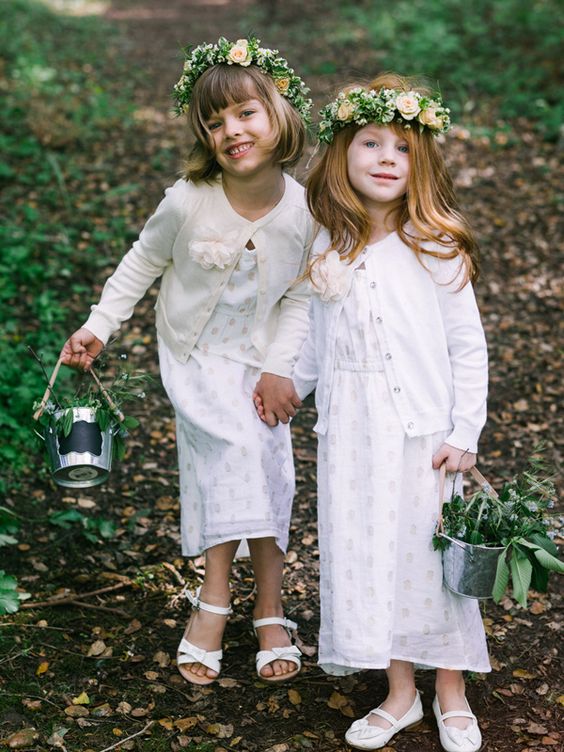
POLYGON ((194 49, 186 48, 184 70, 178 83, 174 86, 176 113, 186 112, 192 99, 194 84, 202 73, 218 63, 241 65, 243 68, 254 64, 270 76, 277 90, 293 104, 302 120, 309 125, 312 101, 307 97, 309 88, 294 73, 283 57, 278 57, 278 50, 260 47, 260 39, 238 39, 229 42, 220 37, 217 44, 200 44, 194 49))

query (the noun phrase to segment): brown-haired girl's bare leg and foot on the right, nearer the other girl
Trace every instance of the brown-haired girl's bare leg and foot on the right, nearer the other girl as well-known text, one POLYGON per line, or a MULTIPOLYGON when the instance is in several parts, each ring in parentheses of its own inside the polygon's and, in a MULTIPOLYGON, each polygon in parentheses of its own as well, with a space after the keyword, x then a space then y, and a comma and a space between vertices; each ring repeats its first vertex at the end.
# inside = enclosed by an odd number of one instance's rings
MULTIPOLYGON (((282 609, 282 575, 284 554, 274 538, 255 538, 248 541, 257 583, 257 597, 253 610, 254 619, 267 616, 284 616, 282 609)), ((257 636, 260 650, 283 648, 291 645, 288 633, 276 624, 259 627, 257 636)), ((291 661, 272 661, 261 671, 263 676, 281 676, 296 670, 291 661)))

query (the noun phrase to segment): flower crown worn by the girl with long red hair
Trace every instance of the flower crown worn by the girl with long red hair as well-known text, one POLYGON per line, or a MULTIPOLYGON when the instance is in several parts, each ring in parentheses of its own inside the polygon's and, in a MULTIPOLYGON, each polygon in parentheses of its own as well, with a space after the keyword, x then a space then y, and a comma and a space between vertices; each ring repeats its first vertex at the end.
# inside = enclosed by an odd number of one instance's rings
POLYGON ((321 123, 318 139, 330 144, 333 135, 351 123, 388 125, 394 122, 402 123, 404 128, 411 128, 417 123, 420 131, 428 128, 437 136, 448 131, 449 112, 439 94, 430 97, 418 91, 375 91, 356 86, 339 92, 337 98, 319 112, 321 123))

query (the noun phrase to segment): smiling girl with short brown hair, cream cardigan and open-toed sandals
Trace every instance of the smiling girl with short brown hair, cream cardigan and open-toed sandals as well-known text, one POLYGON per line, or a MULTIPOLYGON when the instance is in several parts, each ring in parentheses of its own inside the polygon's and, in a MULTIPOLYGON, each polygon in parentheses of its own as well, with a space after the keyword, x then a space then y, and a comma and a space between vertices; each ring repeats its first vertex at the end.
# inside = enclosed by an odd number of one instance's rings
POLYGON ((256 576, 258 675, 278 681, 300 670, 281 585, 294 494, 288 421, 300 404, 290 376, 307 332, 307 294, 294 283, 312 221, 285 170, 304 146, 307 91, 255 38, 187 52, 175 86, 177 111, 188 112, 196 136, 186 177, 167 189, 62 351, 68 365, 89 368, 162 276, 156 322, 176 413, 182 548, 206 558, 177 656, 194 684, 219 674, 229 573, 245 541, 256 576), (268 426, 253 408, 254 388, 268 426))

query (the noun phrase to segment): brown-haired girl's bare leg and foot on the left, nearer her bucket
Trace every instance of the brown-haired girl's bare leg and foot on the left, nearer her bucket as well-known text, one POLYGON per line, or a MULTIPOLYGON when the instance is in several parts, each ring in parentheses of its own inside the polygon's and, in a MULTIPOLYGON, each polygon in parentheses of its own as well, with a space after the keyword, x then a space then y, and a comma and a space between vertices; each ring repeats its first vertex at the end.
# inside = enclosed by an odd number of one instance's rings
MULTIPOLYGON (((229 575, 238 546, 239 541, 228 541, 207 549, 206 573, 200 591, 201 601, 212 606, 229 606, 229 575)), ((193 610, 184 637, 204 650, 220 650, 226 622, 227 618, 220 614, 193 610)), ((184 663, 180 666, 180 671, 183 674, 208 676, 210 679, 217 676, 216 671, 201 663, 184 663)))

